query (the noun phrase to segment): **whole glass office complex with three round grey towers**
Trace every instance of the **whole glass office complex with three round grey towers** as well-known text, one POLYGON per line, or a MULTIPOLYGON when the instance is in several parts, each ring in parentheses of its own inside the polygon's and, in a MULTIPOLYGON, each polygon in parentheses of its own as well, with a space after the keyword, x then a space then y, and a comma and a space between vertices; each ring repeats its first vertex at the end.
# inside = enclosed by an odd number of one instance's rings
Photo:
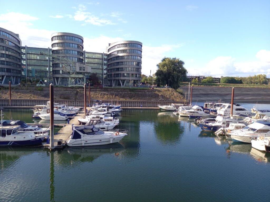
POLYGON ((0 84, 9 81, 18 84, 30 79, 31 82, 43 80, 46 84, 81 85, 93 73, 103 85, 140 84, 142 43, 139 41, 111 43, 107 53, 96 53, 83 50, 83 37, 73 33, 54 33, 52 47, 38 48, 22 46, 18 34, 1 27, 0 30, 0 84))

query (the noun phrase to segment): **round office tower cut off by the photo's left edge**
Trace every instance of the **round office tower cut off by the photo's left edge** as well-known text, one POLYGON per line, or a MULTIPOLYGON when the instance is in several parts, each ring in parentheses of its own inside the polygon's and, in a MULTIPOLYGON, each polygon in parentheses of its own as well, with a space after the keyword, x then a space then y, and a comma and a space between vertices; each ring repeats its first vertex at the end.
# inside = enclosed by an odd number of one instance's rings
POLYGON ((21 45, 19 34, 0 27, 0 84, 20 83, 21 45))

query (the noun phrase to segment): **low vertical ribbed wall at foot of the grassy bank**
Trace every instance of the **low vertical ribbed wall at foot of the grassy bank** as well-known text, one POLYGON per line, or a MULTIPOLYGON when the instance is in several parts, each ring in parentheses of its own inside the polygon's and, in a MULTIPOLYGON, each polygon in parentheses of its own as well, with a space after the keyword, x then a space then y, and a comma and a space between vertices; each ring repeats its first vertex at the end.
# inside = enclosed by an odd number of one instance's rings
MULTIPOLYGON (((88 98, 86 99, 86 106, 89 105, 88 98)), ((0 107, 16 106, 16 107, 33 107, 35 105, 46 105, 49 99, 11 99, 11 105, 9 105, 9 99, 0 99, 0 107)), ((55 99, 55 103, 67 104, 69 106, 83 107, 84 100, 59 100, 55 99)), ((172 101, 149 101, 149 100, 102 100, 103 103, 117 103, 122 107, 157 107, 160 105, 170 105, 172 101)), ((93 105, 93 100, 90 100, 90 106, 93 105)), ((174 103, 184 104, 181 101, 175 101, 174 103)))

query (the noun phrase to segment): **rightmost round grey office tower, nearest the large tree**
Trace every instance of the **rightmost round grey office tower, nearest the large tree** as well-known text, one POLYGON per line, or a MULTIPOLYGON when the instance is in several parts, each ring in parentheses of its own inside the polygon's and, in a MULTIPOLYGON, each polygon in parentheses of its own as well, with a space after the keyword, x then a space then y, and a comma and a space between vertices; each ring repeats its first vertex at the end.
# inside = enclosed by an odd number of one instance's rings
POLYGON ((142 43, 119 41, 109 44, 107 78, 112 86, 139 86, 142 43))

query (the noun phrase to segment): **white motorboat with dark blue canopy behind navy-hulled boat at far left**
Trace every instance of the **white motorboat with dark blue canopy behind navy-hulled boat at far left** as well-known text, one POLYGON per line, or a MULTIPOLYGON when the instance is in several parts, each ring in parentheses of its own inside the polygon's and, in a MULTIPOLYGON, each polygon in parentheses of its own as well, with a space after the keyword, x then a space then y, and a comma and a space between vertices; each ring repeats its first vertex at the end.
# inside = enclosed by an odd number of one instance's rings
POLYGON ((29 126, 24 121, 20 120, 2 120, 2 126, 20 126, 18 132, 33 132, 35 134, 47 133, 50 131, 50 127, 40 128, 38 126, 29 126))

